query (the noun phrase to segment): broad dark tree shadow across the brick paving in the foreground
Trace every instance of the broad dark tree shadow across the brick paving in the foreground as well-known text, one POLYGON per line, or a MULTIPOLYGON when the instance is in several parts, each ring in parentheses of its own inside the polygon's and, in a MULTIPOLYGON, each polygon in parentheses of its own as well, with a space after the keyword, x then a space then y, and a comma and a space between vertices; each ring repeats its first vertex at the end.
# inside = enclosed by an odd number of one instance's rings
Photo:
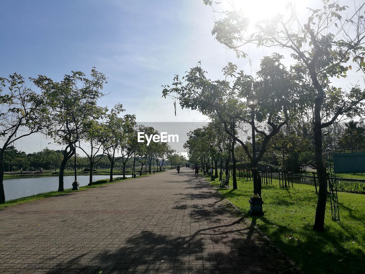
POLYGON ((176 237, 145 230, 125 239, 116 250, 93 256, 83 252, 48 273, 297 273, 272 246, 258 239, 253 226, 243 228, 242 220, 176 237))

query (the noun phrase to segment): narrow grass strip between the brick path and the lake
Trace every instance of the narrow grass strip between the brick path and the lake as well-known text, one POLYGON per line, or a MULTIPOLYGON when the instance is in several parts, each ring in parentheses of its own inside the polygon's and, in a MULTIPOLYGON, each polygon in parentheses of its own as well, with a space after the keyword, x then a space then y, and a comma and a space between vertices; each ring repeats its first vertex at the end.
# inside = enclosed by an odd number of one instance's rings
MULTIPOLYGON (((148 175, 153 175, 153 173, 151 173, 151 174, 142 174, 142 175, 137 176, 137 178, 148 176, 148 175)), ((77 191, 84 191, 84 190, 91 189, 91 188, 94 188, 94 187, 99 187, 100 185, 105 186, 106 184, 124 182, 125 180, 130 180, 130 179, 134 179, 134 178, 129 177, 129 178, 126 178, 124 180, 123 179, 115 180, 115 179, 116 178, 114 178, 113 182, 105 182, 105 180, 109 180, 109 179, 100 179, 100 180, 97 180, 97 181, 93 182, 92 186, 82 186, 82 187, 79 188, 79 190, 65 189, 62 192, 50 191, 50 192, 39 193, 39 194, 32 195, 32 196, 27 196, 27 197, 14 199, 14 200, 5 201, 5 203, 0 203, 0 210, 2 210, 4 208, 7 208, 9 206, 19 205, 20 203, 34 202, 34 201, 46 199, 46 198, 49 198, 49 197, 67 195, 67 194, 70 194, 70 193, 75 193, 77 191)))

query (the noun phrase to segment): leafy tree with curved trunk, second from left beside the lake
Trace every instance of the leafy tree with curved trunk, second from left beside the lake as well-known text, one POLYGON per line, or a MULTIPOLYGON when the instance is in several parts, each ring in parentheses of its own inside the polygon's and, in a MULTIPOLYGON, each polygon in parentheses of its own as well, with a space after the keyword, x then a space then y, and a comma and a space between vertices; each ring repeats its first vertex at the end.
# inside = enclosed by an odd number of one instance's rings
POLYGON ((66 145, 64 157, 59 167, 58 191, 64 191, 64 171, 66 163, 75 154, 77 142, 85 130, 84 123, 99 119, 105 108, 97 106, 97 99, 106 82, 106 76, 91 70, 90 79, 85 73, 72 71, 61 82, 39 75, 32 82, 45 95, 53 125, 43 132, 54 138, 58 144, 66 145))

